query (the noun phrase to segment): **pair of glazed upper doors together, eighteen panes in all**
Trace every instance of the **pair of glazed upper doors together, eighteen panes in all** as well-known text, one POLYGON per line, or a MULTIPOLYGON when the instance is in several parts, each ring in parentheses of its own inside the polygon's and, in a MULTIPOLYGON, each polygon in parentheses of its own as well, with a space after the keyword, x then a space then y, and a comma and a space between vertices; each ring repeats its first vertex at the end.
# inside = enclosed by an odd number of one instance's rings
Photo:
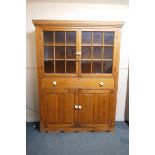
POLYGON ((42 32, 44 76, 112 75, 116 30, 52 29, 42 32))

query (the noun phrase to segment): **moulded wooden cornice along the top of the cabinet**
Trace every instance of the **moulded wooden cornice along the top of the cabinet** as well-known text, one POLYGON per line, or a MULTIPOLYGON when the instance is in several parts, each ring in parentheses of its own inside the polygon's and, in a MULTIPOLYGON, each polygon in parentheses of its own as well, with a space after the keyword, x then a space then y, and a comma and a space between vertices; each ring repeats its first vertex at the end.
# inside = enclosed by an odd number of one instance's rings
POLYGON ((35 26, 113 27, 122 28, 123 21, 32 20, 35 26))

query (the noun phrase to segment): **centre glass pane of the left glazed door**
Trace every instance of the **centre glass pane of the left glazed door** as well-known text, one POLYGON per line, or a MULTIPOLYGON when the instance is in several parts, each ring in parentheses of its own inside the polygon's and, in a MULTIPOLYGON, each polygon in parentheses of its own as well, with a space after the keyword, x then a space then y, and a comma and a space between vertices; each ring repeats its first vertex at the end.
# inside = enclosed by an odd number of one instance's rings
POLYGON ((65 58, 65 47, 56 46, 55 47, 55 59, 64 59, 65 58))

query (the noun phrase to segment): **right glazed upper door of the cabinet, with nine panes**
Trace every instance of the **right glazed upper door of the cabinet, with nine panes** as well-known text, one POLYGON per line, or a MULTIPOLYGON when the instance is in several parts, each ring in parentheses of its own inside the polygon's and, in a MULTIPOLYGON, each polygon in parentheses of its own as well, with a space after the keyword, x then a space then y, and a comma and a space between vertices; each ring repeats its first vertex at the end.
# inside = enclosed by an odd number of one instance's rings
POLYGON ((114 30, 80 30, 80 76, 112 75, 115 37, 114 30))

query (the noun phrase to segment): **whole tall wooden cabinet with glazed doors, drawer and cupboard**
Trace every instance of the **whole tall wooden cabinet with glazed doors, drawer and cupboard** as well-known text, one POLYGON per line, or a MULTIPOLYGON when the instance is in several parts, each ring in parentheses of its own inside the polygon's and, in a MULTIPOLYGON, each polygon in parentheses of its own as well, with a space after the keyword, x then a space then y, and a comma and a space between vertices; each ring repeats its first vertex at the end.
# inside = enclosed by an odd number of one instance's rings
POLYGON ((42 131, 114 127, 123 22, 33 20, 42 131))

